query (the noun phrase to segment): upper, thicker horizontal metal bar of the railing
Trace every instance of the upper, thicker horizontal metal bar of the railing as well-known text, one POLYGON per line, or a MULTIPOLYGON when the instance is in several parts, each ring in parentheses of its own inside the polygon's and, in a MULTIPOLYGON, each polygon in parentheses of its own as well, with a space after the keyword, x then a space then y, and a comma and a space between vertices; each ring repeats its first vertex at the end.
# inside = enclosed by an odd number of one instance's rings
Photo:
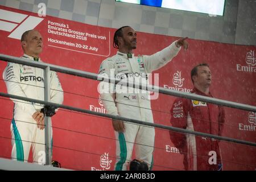
MULTIPOLYGON (((80 71, 77 69, 60 67, 60 66, 53 65, 53 64, 40 63, 37 61, 27 61, 26 59, 21 59, 19 57, 14 57, 14 56, 0 54, 0 59, 3 61, 9 61, 12 63, 30 65, 30 66, 39 67, 39 68, 49 67, 52 71, 66 73, 69 75, 80 76, 80 77, 89 78, 89 79, 93 79, 93 80, 108 81, 108 82, 112 82, 115 84, 117 84, 119 81, 121 81, 117 78, 107 78, 107 77, 102 77, 101 75, 98 76, 98 74, 96 74, 96 73, 90 73, 90 72, 80 71)), ((134 88, 140 88, 140 89, 145 89, 145 90, 154 91, 154 92, 158 91, 159 93, 167 94, 170 96, 184 97, 184 98, 188 98, 188 99, 192 99, 192 100, 204 101, 204 102, 209 102, 212 104, 217 104, 217 105, 232 107, 232 108, 236 108, 236 109, 256 112, 256 106, 240 104, 238 102, 220 100, 218 98, 205 97, 205 96, 200 96, 197 94, 192 94, 192 93, 187 93, 187 92, 180 92, 180 91, 166 89, 166 88, 162 88, 162 87, 154 86, 154 85, 143 85, 143 84, 137 84, 137 83, 133 83, 131 85, 134 88)))

